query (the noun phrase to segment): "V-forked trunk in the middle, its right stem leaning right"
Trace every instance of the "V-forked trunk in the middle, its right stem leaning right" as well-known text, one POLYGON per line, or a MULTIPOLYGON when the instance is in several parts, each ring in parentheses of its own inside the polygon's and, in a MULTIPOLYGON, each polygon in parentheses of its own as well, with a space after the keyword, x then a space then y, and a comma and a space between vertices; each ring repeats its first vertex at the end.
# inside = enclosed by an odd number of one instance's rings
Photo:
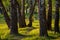
POLYGON ((35 9, 35 5, 36 5, 36 0, 34 2, 34 5, 32 3, 32 0, 30 0, 30 16, 29 16, 29 27, 32 27, 32 21, 33 21, 33 13, 34 13, 34 9, 35 9))

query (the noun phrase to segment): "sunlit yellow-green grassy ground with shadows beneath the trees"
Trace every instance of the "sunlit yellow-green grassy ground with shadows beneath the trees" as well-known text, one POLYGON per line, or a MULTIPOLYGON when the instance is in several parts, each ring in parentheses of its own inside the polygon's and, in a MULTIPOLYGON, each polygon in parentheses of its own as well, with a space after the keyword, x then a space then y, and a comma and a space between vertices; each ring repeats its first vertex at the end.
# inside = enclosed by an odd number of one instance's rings
MULTIPOLYGON (((27 21, 27 20, 26 20, 27 21)), ((52 26, 54 26, 54 20, 52 26)), ((28 24, 28 22, 27 22, 28 24)), ((52 27, 53 29, 54 27, 52 27)), ((54 31, 48 31, 49 37, 39 37, 39 21, 33 21, 33 27, 18 28, 19 35, 10 35, 6 23, 0 23, 0 39, 3 40, 60 40, 60 34, 54 31)))

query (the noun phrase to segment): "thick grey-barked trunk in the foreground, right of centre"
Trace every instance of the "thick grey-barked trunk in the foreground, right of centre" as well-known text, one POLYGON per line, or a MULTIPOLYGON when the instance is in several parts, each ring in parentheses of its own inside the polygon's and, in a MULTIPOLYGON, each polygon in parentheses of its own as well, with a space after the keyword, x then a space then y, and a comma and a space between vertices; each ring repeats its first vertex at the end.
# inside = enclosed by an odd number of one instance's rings
POLYGON ((48 36, 46 27, 45 0, 38 0, 40 36, 48 36))

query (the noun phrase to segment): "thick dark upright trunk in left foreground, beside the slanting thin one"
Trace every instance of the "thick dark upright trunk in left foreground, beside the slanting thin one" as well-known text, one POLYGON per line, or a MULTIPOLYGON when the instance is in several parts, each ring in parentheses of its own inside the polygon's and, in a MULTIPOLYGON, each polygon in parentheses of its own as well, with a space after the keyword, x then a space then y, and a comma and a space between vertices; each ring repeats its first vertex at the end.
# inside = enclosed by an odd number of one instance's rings
POLYGON ((11 34, 18 34, 17 26, 17 3, 15 0, 11 0, 11 34))

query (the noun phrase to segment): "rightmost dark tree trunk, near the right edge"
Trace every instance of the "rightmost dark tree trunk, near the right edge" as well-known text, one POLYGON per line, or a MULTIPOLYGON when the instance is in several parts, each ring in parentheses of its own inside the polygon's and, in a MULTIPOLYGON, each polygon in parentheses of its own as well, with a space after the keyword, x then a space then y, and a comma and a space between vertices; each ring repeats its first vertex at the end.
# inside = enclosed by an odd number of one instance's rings
POLYGON ((59 0, 56 0, 55 32, 59 32, 59 0))

